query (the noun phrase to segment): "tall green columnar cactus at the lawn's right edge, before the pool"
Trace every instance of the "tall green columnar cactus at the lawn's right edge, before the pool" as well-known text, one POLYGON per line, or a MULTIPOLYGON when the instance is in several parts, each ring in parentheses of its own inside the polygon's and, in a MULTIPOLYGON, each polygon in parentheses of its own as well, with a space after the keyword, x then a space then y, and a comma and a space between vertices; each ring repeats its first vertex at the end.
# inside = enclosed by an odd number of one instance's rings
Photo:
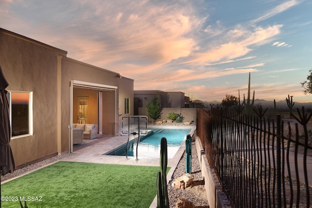
POLYGON ((169 208, 168 189, 167 189, 167 139, 161 138, 160 141, 160 169, 157 173, 157 208, 169 208))

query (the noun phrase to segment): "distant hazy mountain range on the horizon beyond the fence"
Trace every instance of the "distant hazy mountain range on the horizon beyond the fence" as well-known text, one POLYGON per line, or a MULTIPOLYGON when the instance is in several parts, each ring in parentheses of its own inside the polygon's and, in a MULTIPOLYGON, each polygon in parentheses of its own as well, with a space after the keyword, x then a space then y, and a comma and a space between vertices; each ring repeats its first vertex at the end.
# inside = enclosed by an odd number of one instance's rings
MULTIPOLYGON (((247 100, 245 101, 247 102, 247 100)), ((210 107, 210 104, 213 103, 215 105, 221 104, 220 101, 204 101, 204 105, 210 107)), ((262 99, 255 99, 254 100, 254 106, 262 106, 263 108, 274 108, 274 101, 267 101, 267 100, 262 100, 262 99)), ((304 106, 305 109, 312 109, 312 102, 309 103, 300 103, 300 102, 294 102, 293 109, 299 108, 304 106)), ((276 108, 277 109, 288 109, 286 99, 277 101, 276 102, 276 108)))

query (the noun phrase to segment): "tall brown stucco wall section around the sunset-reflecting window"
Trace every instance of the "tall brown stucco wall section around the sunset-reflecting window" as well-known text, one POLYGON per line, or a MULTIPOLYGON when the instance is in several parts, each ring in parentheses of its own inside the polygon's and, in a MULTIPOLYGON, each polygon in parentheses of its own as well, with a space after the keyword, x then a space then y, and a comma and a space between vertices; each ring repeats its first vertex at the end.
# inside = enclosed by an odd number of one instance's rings
POLYGON ((0 29, 0 65, 8 91, 33 92, 33 135, 12 138, 17 166, 57 154, 57 56, 65 51, 0 29))

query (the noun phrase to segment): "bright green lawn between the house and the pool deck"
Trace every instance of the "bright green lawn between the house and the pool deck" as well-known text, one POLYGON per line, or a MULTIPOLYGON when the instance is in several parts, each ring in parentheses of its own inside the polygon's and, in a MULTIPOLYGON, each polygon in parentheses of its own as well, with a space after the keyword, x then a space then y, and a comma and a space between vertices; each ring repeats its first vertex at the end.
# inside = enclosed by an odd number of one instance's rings
MULTIPOLYGON (((168 168, 170 169, 170 168, 168 168)), ((57 162, 1 185, 1 196, 33 197, 29 208, 148 208, 159 167, 57 162), (36 198, 37 197, 37 198, 36 198), (42 200, 42 201, 32 201, 42 200)), ((2 201, 18 208, 19 201, 2 201)))

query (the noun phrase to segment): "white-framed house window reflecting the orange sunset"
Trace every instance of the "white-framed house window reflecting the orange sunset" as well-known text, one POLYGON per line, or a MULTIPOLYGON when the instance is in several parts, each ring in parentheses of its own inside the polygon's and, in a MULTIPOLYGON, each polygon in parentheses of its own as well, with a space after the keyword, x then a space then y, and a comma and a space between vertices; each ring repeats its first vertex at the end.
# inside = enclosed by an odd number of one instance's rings
POLYGON ((32 93, 9 92, 11 136, 30 135, 33 131, 32 93))

